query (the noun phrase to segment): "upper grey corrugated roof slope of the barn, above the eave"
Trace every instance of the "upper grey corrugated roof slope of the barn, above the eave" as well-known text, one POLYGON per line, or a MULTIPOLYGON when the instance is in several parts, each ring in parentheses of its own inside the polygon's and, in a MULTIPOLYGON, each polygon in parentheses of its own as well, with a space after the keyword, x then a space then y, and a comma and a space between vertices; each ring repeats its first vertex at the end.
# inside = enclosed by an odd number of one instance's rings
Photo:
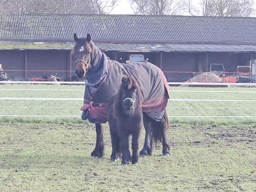
POLYGON ((256 42, 255 17, 170 15, 0 15, 0 39, 93 39, 256 42))

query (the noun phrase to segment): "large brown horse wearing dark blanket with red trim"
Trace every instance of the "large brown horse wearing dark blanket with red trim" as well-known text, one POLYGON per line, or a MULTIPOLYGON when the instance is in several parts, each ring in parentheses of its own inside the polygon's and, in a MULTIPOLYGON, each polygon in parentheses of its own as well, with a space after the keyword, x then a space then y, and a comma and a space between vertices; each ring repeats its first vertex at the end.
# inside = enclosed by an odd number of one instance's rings
POLYGON ((157 134, 161 138, 162 154, 169 155, 170 147, 165 133, 168 127, 166 106, 169 86, 162 71, 146 61, 121 64, 108 59, 92 42, 90 34, 86 38, 79 38, 75 33, 74 40, 72 53, 76 61, 76 74, 79 78, 85 78, 86 85, 84 105, 81 107, 82 119, 96 124, 96 146, 91 155, 104 155, 101 124, 107 122, 108 102, 118 92, 123 75, 135 77, 141 86, 145 141, 140 156, 152 154, 152 135, 157 134))

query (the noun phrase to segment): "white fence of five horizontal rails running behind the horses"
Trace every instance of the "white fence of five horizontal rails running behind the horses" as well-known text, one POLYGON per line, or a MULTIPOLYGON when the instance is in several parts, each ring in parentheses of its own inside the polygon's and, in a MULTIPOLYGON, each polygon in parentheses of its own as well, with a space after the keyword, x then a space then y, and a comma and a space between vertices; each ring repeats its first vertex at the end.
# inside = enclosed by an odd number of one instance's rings
MULTIPOLYGON (((84 89, 8 89, 8 88, 1 88, 1 84, 73 84, 73 85, 84 85, 84 82, 31 82, 31 81, 1 81, 0 82, 0 91, 84 91, 84 89)), ((180 82, 169 82, 169 85, 233 85, 233 86, 256 86, 255 83, 180 83, 180 82)), ((170 92, 208 92, 208 93, 256 93, 256 91, 232 91, 232 90, 171 90, 170 92)), ((256 97, 254 97, 256 99, 256 97)), ((4 100, 27 100, 27 101, 83 101, 83 98, 26 98, 26 97, 0 97, 0 101, 4 100)), ((227 100, 227 99, 170 99, 171 102, 251 102, 251 107, 225 107, 225 109, 256 109, 255 103, 256 100, 246 100, 241 99, 241 100, 227 100)), ((1 106, 2 108, 60 108, 60 109, 78 109, 79 107, 61 107, 61 106, 1 106)), ((207 109, 223 109, 223 107, 167 107, 167 109, 202 109, 202 110, 207 110, 207 109)), ((0 114, 0 117, 60 117, 60 118, 77 118, 80 116, 74 116, 74 115, 69 115, 69 116, 61 116, 61 115, 25 115, 25 114, 19 114, 19 115, 12 115, 12 114, 0 114)), ((245 115, 245 116, 169 116, 169 117, 177 117, 177 118, 255 118, 256 116, 253 115, 245 115)))

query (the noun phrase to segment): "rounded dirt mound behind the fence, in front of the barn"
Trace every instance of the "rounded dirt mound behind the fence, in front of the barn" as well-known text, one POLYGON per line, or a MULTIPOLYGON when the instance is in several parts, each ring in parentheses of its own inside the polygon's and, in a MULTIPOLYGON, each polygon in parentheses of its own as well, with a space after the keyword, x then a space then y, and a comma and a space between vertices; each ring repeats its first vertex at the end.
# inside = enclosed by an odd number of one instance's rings
MULTIPOLYGON (((198 74, 186 81, 187 83, 223 83, 223 80, 214 73, 205 72, 198 74)), ((180 85, 180 87, 209 87, 209 85, 180 85)), ((212 85, 211 87, 227 87, 226 85, 212 85)))

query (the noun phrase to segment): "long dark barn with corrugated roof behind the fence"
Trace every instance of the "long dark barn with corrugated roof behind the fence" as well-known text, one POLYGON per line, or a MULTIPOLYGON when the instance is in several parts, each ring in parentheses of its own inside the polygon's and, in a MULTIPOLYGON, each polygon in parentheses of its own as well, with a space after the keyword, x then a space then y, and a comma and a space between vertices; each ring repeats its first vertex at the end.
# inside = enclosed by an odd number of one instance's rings
POLYGON ((122 63, 140 57, 162 69, 168 81, 223 64, 226 72, 256 58, 255 17, 170 15, 0 15, 0 63, 12 80, 74 75, 73 34, 90 33, 108 57, 122 63))

